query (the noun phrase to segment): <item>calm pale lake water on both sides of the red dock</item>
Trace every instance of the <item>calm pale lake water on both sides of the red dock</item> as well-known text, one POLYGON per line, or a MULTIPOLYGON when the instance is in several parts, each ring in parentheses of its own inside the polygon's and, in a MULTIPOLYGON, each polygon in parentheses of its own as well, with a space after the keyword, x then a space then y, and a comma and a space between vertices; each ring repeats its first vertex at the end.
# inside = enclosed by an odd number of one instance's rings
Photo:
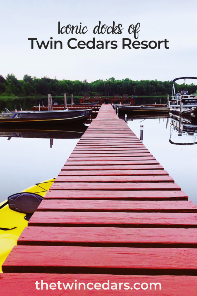
MULTIPOLYGON (((138 137, 140 125, 144 126, 144 145, 197 205, 197 144, 193 144, 197 142, 197 133, 193 132, 197 123, 192 119, 188 132, 182 133, 178 123, 173 118, 128 117, 128 126, 138 137)), ((54 132, 0 128, 0 202, 35 183, 56 177, 86 128, 82 125, 69 131, 61 126, 54 132)))

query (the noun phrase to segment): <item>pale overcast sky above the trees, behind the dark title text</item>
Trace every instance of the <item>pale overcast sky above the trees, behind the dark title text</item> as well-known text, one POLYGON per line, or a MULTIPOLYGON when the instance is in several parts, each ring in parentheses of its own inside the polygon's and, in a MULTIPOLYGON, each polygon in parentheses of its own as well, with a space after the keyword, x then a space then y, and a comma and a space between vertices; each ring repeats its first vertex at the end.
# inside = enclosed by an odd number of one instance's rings
MULTIPOLYGON (((197 1, 195 0, 0 0, 0 74, 94 81, 172 80, 197 76, 197 1), (93 34, 98 24, 123 25, 123 33, 93 34), (61 26, 82 25, 86 34, 58 35, 61 26), (122 49, 131 24, 140 23, 138 41, 169 41, 170 49, 122 49), (61 40, 63 49, 31 49, 28 38, 61 40), (67 41, 117 40, 118 49, 69 49, 67 41)), ((73 43, 74 44, 74 43, 73 43)), ((164 46, 162 46, 164 47, 164 46)))

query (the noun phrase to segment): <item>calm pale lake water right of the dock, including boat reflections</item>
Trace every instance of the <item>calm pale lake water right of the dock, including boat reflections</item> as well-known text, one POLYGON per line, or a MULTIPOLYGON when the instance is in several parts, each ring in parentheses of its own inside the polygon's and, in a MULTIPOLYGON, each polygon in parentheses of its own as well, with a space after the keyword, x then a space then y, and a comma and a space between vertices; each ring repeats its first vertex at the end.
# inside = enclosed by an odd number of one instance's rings
MULTIPOLYGON (((124 116, 121 119, 124 120, 124 116)), ((189 200, 197 205, 197 120, 182 116, 180 128, 179 120, 179 116, 174 118, 170 115, 128 115, 128 126, 140 137, 140 126, 143 125, 143 144, 188 195, 189 200)))

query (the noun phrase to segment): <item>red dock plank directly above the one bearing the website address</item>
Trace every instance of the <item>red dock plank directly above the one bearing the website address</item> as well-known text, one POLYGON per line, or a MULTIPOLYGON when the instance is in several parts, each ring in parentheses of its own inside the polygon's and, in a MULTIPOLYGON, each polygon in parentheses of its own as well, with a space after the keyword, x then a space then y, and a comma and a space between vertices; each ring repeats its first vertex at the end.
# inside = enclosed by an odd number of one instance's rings
POLYGON ((197 275, 197 249, 14 246, 3 272, 197 275))

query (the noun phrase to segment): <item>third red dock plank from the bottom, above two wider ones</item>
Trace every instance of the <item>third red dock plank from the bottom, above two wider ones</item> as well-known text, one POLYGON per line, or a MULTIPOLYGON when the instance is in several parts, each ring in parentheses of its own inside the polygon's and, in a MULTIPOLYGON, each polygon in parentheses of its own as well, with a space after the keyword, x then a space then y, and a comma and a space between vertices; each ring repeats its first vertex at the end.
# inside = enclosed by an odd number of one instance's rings
POLYGON ((26 227, 18 245, 196 248, 197 229, 26 227))

